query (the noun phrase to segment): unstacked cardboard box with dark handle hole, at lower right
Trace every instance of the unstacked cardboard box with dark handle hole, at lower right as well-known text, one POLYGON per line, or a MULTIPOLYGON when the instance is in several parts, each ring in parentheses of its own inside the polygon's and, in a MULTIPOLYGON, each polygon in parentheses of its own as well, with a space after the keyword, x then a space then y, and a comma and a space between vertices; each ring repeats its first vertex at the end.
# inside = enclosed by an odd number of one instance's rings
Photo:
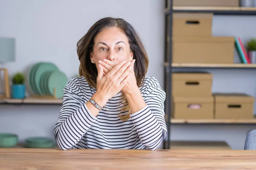
POLYGON ((253 119, 254 97, 246 94, 214 94, 215 119, 253 119))

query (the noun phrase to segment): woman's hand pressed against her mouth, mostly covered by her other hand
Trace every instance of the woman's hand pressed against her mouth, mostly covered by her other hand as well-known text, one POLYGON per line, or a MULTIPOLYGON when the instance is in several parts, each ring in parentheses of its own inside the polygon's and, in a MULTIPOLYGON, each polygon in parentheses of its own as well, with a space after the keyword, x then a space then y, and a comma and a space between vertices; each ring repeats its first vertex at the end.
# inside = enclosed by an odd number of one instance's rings
MULTIPOLYGON (((135 59, 133 59, 131 61, 131 69, 128 73, 128 75, 129 75, 128 81, 121 90, 124 94, 131 94, 132 91, 134 91, 136 88, 138 88, 136 77, 134 74, 134 62, 135 62, 135 59)), ((111 62, 108 59, 99 61, 99 63, 103 66, 103 71, 105 74, 108 74, 112 70, 112 68, 114 68, 116 66, 116 64, 114 62, 111 62)))

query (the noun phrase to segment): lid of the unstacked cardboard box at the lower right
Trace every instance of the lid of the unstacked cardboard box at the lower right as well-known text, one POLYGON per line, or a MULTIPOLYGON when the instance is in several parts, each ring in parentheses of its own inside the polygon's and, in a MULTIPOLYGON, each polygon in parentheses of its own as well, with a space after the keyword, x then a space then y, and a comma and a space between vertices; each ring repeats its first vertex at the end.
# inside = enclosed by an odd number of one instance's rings
POLYGON ((254 97, 247 94, 239 94, 239 93, 214 93, 215 102, 254 102, 254 97))

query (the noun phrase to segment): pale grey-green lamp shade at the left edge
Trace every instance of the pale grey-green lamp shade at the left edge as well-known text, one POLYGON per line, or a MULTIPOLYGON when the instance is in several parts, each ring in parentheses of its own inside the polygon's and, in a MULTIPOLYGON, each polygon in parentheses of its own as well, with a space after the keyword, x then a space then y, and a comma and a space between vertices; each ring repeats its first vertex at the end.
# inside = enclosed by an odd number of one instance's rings
POLYGON ((15 61, 15 39, 0 37, 0 63, 15 61))

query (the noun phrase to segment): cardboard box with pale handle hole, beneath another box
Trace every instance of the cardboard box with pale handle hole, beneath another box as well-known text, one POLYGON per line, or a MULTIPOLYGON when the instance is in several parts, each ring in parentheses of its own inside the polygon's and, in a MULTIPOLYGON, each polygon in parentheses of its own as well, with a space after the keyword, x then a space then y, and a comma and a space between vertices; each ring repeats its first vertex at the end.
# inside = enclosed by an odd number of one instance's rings
POLYGON ((173 97, 173 119, 213 119, 213 97, 173 97))

